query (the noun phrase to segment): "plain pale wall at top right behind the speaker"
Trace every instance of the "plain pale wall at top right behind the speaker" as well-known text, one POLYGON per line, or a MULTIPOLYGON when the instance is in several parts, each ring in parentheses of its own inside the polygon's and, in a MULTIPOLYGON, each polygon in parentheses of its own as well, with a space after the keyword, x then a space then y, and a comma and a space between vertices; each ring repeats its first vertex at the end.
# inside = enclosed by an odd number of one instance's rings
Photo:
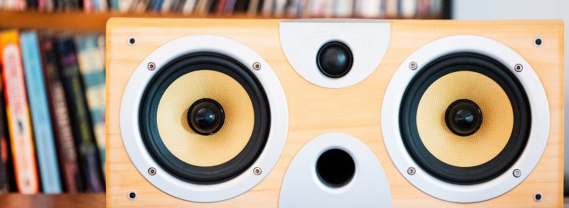
MULTIPOLYGON (((568 0, 453 0, 452 19, 563 19, 565 42, 569 42, 569 1, 568 0)), ((569 46, 565 46, 565 86, 568 86, 569 46)), ((565 132, 569 132, 568 92, 565 91, 565 132)), ((567 133, 566 133, 567 135, 567 133)), ((569 180, 569 139, 565 137, 565 189, 569 180)), ((566 191, 567 192, 567 191, 566 191)))

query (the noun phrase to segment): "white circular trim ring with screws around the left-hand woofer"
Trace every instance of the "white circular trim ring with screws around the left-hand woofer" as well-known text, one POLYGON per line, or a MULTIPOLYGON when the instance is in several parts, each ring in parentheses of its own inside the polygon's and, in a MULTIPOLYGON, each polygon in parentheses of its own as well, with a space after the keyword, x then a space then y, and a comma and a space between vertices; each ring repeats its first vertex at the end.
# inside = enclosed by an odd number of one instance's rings
POLYGON ((248 46, 219 35, 180 37, 158 47, 144 58, 130 76, 124 89, 119 119, 124 148, 137 171, 164 193, 192 202, 228 200, 253 189, 266 175, 269 175, 280 157, 285 146, 289 122, 285 92, 269 63, 248 46), (218 184, 192 184, 169 175, 152 159, 146 150, 137 122, 142 95, 153 76, 171 60, 180 57, 180 55, 196 52, 221 53, 244 64, 262 85, 271 109, 269 137, 261 155, 244 173, 218 184), (155 63, 155 70, 148 70, 147 64, 149 62, 155 63), (253 69, 255 62, 259 62, 262 69, 253 69), (148 168, 151 167, 156 168, 155 175, 148 174, 148 168), (262 169, 260 175, 253 173, 253 169, 256 167, 262 169))

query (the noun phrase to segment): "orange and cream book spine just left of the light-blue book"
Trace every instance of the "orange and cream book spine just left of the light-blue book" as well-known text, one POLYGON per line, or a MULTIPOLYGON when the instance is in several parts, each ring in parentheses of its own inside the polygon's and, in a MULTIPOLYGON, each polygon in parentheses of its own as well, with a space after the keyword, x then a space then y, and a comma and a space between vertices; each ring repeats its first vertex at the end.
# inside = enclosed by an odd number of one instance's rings
POLYGON ((35 151, 18 32, 1 33, 0 49, 16 184, 20 193, 37 193, 40 190, 40 179, 35 168, 35 151))

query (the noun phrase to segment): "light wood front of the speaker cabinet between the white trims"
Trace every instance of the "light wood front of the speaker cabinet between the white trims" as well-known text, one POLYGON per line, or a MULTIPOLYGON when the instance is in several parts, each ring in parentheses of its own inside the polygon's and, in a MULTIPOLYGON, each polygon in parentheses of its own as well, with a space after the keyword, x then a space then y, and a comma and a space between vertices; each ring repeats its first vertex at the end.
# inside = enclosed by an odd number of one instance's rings
MULTIPOLYGON (((563 22, 395 20, 382 62, 356 85, 329 89, 309 83, 294 71, 279 40, 278 19, 110 19, 107 23, 107 205, 110 207, 277 207, 283 177, 294 155, 309 141, 342 132, 363 141, 380 161, 395 207, 561 207, 563 204, 563 22), (130 75, 153 50, 187 35, 229 37, 269 62, 288 102, 289 130, 285 148, 269 175, 256 187, 230 200, 194 203, 173 198, 153 187, 130 162, 121 139, 119 107, 130 75), (384 91, 400 64, 421 46, 450 35, 479 35, 519 53, 545 88, 550 132, 534 171, 516 188, 484 202, 459 204, 429 196, 405 180, 391 162, 382 138, 380 112, 384 91), (129 46, 129 37, 136 44, 129 46), (541 37, 542 46, 534 39, 541 37), (354 108, 354 103, 357 107, 354 108), (353 116, 354 113, 358 116, 353 116), (309 115, 309 116, 307 116, 309 115), (136 191, 129 200, 127 193, 136 191), (534 201, 542 193, 541 202, 534 201)), ((355 69, 357 70, 357 69, 355 69)), ((133 121, 136 122, 136 121, 133 121)))

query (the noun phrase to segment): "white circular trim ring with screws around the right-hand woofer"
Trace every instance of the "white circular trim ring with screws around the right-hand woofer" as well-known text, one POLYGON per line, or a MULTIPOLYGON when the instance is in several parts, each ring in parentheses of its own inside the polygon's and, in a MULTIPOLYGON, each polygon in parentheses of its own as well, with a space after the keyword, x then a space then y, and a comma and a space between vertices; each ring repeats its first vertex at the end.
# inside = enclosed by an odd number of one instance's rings
POLYGON ((550 130, 550 111, 545 89, 530 66, 521 55, 508 46, 495 40, 475 35, 454 35, 434 40, 402 62, 391 78, 385 92, 381 110, 381 128, 387 153, 398 171, 407 181, 434 198, 449 202, 482 202, 507 193, 523 182, 537 165, 550 130), (425 64, 450 53, 472 52, 487 55, 504 64, 520 81, 525 89, 532 113, 531 130, 522 155, 502 175, 493 180, 473 185, 450 184, 432 177, 418 166, 403 144, 399 128, 399 110, 402 96, 416 73, 425 64), (409 63, 416 62, 418 69, 409 69, 409 63), (516 64, 523 65, 523 71, 514 70, 516 64), (416 173, 409 175, 407 169, 414 167, 416 173), (519 169, 520 177, 514 177, 513 171, 519 169))

